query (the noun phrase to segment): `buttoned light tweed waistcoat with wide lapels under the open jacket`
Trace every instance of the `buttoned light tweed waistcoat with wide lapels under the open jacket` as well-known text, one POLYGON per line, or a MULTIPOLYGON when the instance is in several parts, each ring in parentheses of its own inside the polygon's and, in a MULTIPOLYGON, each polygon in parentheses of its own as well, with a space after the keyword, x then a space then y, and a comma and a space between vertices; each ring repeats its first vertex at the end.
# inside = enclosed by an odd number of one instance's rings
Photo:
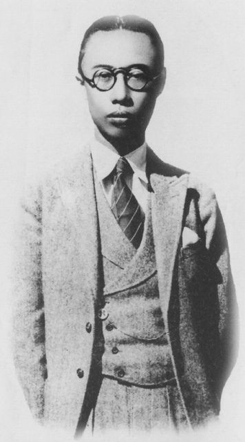
POLYGON ((153 387, 175 377, 158 293, 151 225, 151 193, 138 250, 120 229, 96 180, 96 200, 103 255, 103 375, 123 383, 153 387))

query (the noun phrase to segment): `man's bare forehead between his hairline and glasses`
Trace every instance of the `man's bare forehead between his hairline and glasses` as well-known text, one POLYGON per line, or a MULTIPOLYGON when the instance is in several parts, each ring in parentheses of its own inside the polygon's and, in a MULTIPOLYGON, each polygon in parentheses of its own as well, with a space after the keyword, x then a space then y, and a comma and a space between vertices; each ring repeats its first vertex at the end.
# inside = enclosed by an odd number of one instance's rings
POLYGON ((145 64, 153 68, 156 49, 148 35, 131 30, 98 31, 87 42, 83 57, 83 69, 100 64, 127 67, 145 64))

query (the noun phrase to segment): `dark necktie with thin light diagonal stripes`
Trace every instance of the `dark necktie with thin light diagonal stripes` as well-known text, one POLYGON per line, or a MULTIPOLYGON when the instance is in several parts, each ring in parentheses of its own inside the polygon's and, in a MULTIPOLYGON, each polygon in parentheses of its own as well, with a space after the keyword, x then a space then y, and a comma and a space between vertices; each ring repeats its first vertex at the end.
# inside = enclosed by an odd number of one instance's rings
POLYGON ((133 173, 127 160, 120 157, 114 169, 111 210, 123 233, 138 249, 144 231, 145 216, 142 215, 140 204, 125 182, 125 176, 133 173))

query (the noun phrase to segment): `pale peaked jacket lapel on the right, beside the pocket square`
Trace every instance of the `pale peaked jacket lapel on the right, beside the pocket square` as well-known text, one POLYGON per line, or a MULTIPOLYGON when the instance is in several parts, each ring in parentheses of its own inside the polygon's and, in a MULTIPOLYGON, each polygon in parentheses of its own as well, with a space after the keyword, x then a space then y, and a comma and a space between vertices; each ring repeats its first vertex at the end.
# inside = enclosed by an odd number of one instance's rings
POLYGON ((152 224, 162 314, 167 324, 173 268, 182 232, 189 175, 165 177, 151 173, 152 224))

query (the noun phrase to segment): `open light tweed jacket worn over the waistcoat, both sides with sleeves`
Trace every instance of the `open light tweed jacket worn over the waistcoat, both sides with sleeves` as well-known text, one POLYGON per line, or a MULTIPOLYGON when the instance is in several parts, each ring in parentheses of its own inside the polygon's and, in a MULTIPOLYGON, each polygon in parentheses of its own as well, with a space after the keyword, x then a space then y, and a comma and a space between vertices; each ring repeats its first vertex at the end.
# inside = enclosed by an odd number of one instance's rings
MULTIPOLYGON (((213 191, 150 148, 147 174, 162 314, 182 404, 195 427, 219 413, 235 357, 224 224, 213 191), (198 242, 182 247, 184 227, 198 242)), ((34 416, 74 434, 89 414, 103 293, 89 146, 28 189, 18 224, 15 365, 34 416)))

